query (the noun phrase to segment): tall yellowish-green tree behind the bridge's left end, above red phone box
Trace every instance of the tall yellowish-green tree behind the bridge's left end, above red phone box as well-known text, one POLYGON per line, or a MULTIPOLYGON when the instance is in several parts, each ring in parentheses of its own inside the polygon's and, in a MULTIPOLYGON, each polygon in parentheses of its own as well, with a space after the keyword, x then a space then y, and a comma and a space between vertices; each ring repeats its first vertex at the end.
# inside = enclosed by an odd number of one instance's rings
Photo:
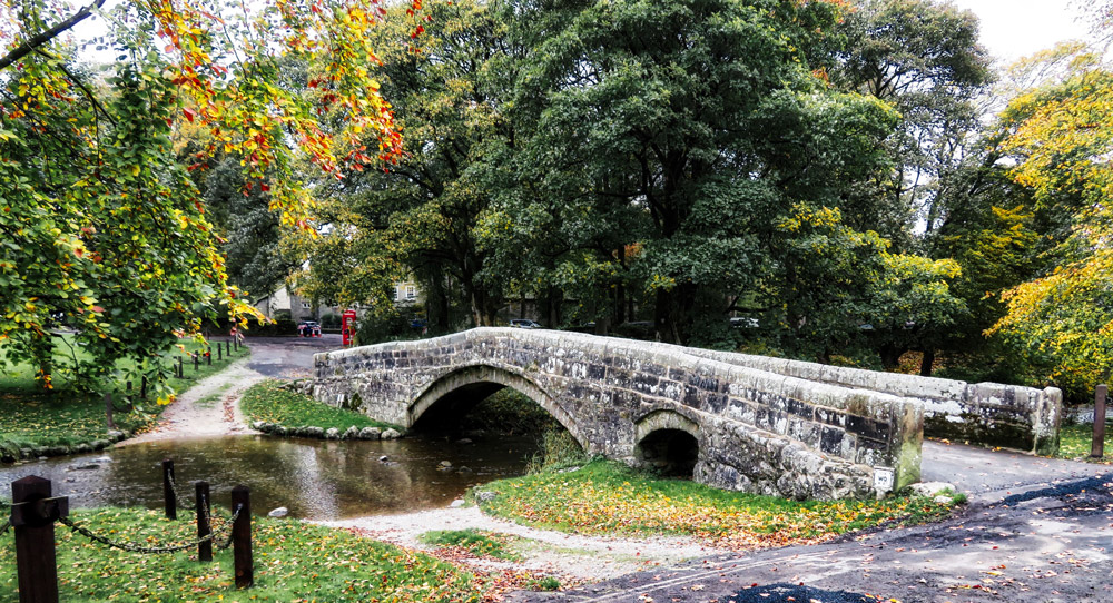
POLYGON ((506 279, 489 269, 476 228, 499 194, 492 172, 514 136, 500 72, 506 27, 471 0, 439 4, 431 16, 420 53, 397 43, 401 28, 378 33, 383 90, 406 128, 406 152, 384 170, 323 187, 321 220, 332 230, 309 245, 301 283, 322 298, 388 313, 392 283, 415 277, 434 330, 450 327, 455 289, 473 325, 493 325, 506 279), (324 264, 345 255, 347 269, 324 264))

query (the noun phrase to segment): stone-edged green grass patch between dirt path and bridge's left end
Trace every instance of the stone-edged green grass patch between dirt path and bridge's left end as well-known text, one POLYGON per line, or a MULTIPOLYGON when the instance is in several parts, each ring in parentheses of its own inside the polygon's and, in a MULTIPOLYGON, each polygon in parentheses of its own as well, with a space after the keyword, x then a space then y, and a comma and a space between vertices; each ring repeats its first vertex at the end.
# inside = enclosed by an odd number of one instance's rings
POLYGON ((309 426, 329 429, 335 427, 343 432, 354 425, 357 429, 393 427, 402 431, 394 425, 375 421, 362 413, 328 406, 309 396, 284 389, 282 382, 278 380, 266 380, 252 386, 244 393, 239 406, 248 421, 262 421, 289 428, 309 426))

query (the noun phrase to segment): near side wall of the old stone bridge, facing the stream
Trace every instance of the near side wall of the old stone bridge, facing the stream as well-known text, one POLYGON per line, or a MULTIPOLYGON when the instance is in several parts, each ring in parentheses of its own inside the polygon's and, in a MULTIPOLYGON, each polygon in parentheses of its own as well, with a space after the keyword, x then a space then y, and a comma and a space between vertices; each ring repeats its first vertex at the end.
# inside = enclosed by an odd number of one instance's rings
POLYGON ((684 432, 698 443, 695 480, 759 494, 867 497, 919 480, 922 404, 693 352, 476 328, 317 354, 312 395, 411 427, 426 413, 466 406, 469 396, 513 387, 591 454, 637 464, 643 441, 684 432))

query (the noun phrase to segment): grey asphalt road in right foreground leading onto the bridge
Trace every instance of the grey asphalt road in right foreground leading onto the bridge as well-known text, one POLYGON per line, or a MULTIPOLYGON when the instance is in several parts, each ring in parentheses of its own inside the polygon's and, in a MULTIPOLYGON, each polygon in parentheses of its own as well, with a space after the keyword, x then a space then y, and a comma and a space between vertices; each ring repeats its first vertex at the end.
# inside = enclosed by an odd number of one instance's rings
POLYGON ((973 492, 943 523, 876 530, 642 572, 546 603, 798 601, 1113 601, 1113 473, 1109 466, 967 446, 925 445, 927 478, 973 492))

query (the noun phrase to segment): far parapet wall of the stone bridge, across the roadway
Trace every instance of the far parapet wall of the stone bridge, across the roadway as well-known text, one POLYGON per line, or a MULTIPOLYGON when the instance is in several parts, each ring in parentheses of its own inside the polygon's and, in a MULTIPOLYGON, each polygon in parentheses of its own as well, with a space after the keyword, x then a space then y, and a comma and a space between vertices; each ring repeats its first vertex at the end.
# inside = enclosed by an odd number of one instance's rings
POLYGON ((1056 387, 1036 389, 998 383, 966 383, 748 354, 679 349, 701 358, 778 375, 915 401, 924 407, 924 434, 930 437, 1041 455, 1058 452, 1063 393, 1056 387))

